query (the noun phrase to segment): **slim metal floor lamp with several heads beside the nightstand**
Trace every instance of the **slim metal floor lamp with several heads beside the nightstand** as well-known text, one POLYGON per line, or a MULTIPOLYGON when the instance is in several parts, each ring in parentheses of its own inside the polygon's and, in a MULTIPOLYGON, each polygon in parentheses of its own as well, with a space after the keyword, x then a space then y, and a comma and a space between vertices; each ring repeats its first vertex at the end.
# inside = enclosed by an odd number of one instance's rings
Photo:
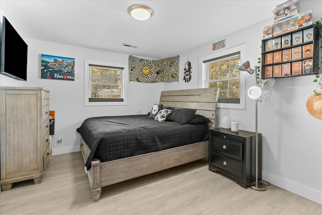
MULTIPOLYGON (((239 67, 241 71, 247 71, 249 74, 253 74, 254 70, 251 68, 250 61, 246 61, 239 67)), ((256 70, 256 69, 255 69, 256 70)), ((266 185, 258 180, 258 132, 257 132, 257 102, 258 98, 262 96, 262 90, 269 90, 273 87, 274 79, 257 79, 257 74, 255 74, 256 86, 252 86, 248 89, 247 95, 251 99, 256 99, 255 106, 255 137, 256 137, 256 180, 251 184, 251 188, 254 190, 264 191, 266 190, 266 185), (258 85, 260 87, 258 87, 258 85)))

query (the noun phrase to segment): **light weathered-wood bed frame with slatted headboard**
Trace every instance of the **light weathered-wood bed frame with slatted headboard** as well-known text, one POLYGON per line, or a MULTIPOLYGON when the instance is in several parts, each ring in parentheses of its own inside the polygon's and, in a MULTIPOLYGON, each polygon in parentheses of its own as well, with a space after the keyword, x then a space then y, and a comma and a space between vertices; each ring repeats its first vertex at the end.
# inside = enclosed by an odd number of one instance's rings
MULTIPOLYGON (((162 91, 160 104, 164 107, 193 108, 196 114, 203 115, 211 120, 208 126, 216 127, 216 106, 218 88, 201 88, 189 90, 162 91)), ((81 152, 84 163, 91 152, 83 138, 81 152)), ((144 155, 123 158, 100 163, 92 161, 92 168, 87 172, 92 196, 98 201, 101 187, 140 177, 150 173, 176 167, 208 157, 208 140, 187 146, 148 153, 144 155)))

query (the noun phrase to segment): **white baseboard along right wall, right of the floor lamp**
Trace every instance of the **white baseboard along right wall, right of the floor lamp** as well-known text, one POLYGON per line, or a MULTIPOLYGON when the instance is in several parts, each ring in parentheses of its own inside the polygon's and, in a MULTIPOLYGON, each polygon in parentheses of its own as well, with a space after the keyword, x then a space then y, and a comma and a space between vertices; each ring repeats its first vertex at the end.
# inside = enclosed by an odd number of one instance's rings
POLYGON ((322 191, 313 190, 309 187, 297 184, 293 181, 281 178, 276 175, 272 175, 265 171, 262 171, 262 178, 264 181, 274 184, 275 186, 290 191, 296 195, 302 196, 303 198, 307 198, 318 204, 322 204, 322 191))

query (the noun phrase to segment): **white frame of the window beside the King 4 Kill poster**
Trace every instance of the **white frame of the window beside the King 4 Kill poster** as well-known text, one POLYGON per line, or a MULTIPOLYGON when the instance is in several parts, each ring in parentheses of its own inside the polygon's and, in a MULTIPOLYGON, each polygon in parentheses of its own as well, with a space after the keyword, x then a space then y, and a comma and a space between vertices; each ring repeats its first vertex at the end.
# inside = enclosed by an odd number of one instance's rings
POLYGON ((127 105, 127 85, 128 85, 128 68, 127 65, 120 65, 111 62, 97 62, 97 61, 84 61, 84 105, 85 106, 115 106, 115 105, 127 105), (90 98, 90 65, 98 65, 105 67, 120 67, 121 70, 121 85, 122 85, 122 98, 123 102, 89 102, 90 98))

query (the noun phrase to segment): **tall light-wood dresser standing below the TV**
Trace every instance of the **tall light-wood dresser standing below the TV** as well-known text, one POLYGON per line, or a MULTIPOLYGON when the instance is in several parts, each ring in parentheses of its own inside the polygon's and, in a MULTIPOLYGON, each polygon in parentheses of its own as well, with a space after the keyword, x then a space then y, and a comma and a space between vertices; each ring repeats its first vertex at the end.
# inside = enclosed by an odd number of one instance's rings
POLYGON ((0 87, 0 185, 42 177, 50 157, 49 91, 32 87, 0 87))

